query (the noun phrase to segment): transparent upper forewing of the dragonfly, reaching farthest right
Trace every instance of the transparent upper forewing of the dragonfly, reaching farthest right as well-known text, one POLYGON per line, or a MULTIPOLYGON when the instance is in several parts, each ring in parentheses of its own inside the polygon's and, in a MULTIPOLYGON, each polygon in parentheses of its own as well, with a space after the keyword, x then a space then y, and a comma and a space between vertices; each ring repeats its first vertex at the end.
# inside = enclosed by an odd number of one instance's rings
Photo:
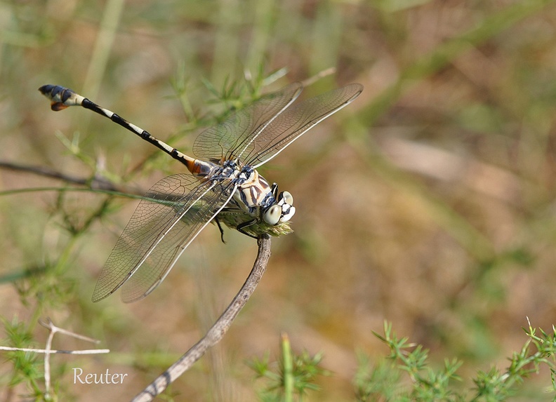
POLYGON ((315 127, 326 117, 349 105, 363 91, 359 83, 309 98, 286 109, 270 121, 263 130, 246 138, 237 156, 253 168, 274 158, 279 152, 315 127))

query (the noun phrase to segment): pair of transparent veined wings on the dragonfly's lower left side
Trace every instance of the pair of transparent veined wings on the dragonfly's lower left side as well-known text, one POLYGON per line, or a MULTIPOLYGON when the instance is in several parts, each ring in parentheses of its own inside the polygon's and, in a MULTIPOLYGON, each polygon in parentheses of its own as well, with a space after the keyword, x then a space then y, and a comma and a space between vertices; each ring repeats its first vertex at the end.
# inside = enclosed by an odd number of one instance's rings
POLYGON ((141 200, 114 246, 93 292, 98 302, 122 288, 124 302, 156 288, 185 248, 230 201, 230 181, 199 184, 192 175, 165 177, 141 200))

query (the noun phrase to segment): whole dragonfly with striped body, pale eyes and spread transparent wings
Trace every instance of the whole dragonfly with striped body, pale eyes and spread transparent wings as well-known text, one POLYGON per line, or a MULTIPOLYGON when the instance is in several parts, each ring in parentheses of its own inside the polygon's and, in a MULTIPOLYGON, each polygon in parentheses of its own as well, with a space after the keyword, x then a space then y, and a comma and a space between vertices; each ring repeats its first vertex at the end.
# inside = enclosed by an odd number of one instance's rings
POLYGON ((347 106, 363 91, 359 83, 294 101, 302 83, 263 95, 223 122, 201 132, 187 156, 69 88, 39 91, 59 111, 81 106, 114 121, 185 165, 157 182, 141 199, 119 237, 93 291, 98 302, 121 288, 121 300, 135 302, 164 281, 178 258, 210 222, 258 238, 289 234, 296 213, 293 196, 279 192, 257 171, 307 130, 347 106))

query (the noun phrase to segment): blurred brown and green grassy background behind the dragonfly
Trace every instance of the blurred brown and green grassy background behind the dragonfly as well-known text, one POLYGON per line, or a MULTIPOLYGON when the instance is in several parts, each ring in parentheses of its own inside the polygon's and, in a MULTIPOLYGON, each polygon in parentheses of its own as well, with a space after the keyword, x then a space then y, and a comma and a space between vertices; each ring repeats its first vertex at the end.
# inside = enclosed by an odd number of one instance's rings
MULTIPOLYGON (((73 88, 190 153, 195 135, 253 88, 333 67, 302 98, 351 82, 364 93, 260 169, 295 197, 295 232, 273 240, 246 309, 171 394, 256 401, 245 361, 277 359, 285 332, 296 351, 324 352, 333 373, 307 400, 353 401, 357 352, 388 353, 373 335, 384 320, 438 365, 461 359, 464 379, 504 368, 527 340, 527 317, 549 332, 556 321, 553 3, 2 1, 4 326, 20 323, 27 346, 44 347, 46 316, 102 340, 108 355, 53 356, 53 377, 63 400, 125 400, 197 342, 256 257, 253 239, 226 230, 223 244, 209 226, 145 300, 93 304, 138 201, 69 191, 88 188, 75 180, 143 192, 184 169, 91 112, 51 112, 39 86, 73 88), (73 384, 74 367, 129 380, 73 384)), ((57 336, 53 347, 93 346, 57 336)), ((8 382, 11 363, 2 359, 0 374, 8 382)), ((535 381, 550 385, 548 375, 535 381)))

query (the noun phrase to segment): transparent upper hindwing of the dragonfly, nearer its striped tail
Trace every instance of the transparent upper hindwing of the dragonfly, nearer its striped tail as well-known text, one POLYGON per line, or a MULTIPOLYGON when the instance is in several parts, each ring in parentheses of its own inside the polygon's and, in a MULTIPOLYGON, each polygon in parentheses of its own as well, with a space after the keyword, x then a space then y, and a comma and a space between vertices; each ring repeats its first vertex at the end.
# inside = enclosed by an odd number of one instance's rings
POLYGON ((296 100, 303 86, 292 83, 281 91, 263 96, 232 114, 222 123, 204 130, 193 144, 193 153, 204 159, 232 159, 251 147, 251 140, 296 100))

